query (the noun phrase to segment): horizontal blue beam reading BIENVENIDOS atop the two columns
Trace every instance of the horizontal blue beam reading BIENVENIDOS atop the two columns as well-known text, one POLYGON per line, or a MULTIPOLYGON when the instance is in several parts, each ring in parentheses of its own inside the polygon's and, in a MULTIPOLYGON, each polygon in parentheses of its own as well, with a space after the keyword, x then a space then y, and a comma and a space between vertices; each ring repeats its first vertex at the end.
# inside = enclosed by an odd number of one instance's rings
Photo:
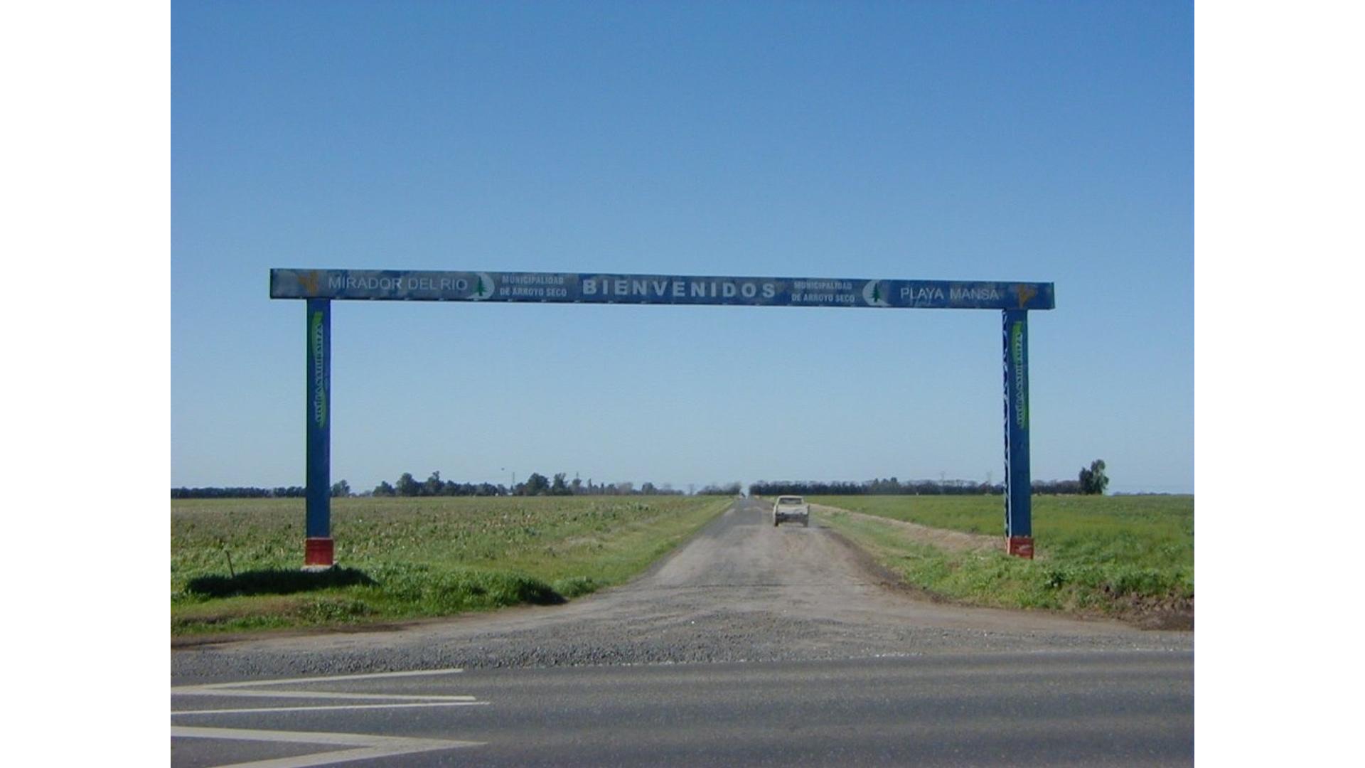
POLYGON ((1052 309, 1052 283, 272 269, 273 299, 1052 309))

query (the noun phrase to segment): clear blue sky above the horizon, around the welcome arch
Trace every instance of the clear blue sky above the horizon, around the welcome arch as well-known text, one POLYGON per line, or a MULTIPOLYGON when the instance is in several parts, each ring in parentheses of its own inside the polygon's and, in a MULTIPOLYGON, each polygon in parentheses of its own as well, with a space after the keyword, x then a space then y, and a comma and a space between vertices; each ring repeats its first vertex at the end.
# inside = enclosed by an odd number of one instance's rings
MULTIPOLYGON (((303 484, 272 266, 1054 282, 1035 478, 1192 492, 1192 8, 176 3, 172 485, 303 484)), ((337 302, 333 333, 355 489, 1003 477, 995 312, 337 302)))

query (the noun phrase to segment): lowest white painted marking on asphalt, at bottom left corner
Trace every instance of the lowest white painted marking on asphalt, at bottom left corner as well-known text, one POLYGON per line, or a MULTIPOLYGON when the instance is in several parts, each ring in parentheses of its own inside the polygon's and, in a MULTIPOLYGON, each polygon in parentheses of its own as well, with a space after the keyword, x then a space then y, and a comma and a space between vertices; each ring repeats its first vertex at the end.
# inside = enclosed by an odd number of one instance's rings
POLYGON ((377 737, 369 734, 329 734, 314 731, 258 731, 244 728, 199 728, 190 726, 172 726, 171 738, 205 738, 205 739, 238 739, 263 741, 280 743, 321 743, 334 746, 351 746, 333 752, 318 752, 313 754, 299 754, 295 757, 278 757, 273 760, 257 760, 253 763, 236 763, 222 768, 304 768, 308 765, 333 765, 352 760, 367 760, 373 757, 390 757, 396 754, 412 754, 418 752, 434 752, 438 749, 459 749, 479 746, 476 741, 450 739, 419 739, 404 737, 377 737))

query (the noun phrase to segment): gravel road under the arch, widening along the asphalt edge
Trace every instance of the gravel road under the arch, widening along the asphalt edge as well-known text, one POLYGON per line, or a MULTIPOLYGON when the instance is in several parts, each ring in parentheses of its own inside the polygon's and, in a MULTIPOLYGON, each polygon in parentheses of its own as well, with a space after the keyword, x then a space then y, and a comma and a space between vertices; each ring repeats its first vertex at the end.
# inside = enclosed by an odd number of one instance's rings
POLYGON ((1119 649, 1192 650, 1193 634, 934 603, 819 523, 774 527, 767 504, 741 499, 640 578, 566 605, 179 648, 172 682, 1119 649))

